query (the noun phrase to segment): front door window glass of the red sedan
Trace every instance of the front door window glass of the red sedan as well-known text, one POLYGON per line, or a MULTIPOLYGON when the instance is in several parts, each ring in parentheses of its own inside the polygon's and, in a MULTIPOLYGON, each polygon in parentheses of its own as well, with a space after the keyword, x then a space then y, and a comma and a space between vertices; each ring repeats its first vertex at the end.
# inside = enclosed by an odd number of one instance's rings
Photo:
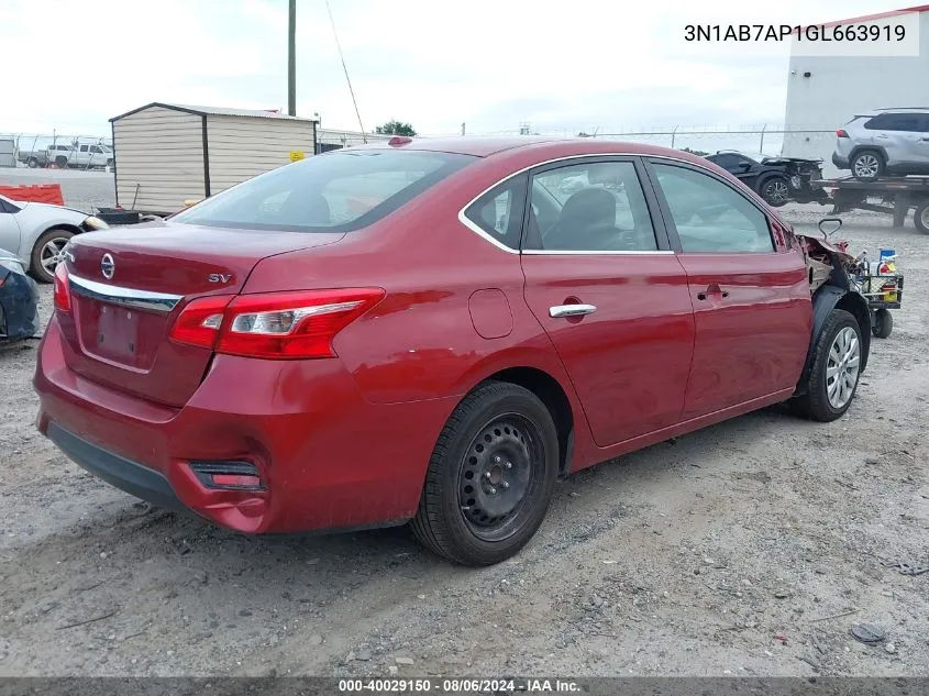
POLYGON ((654 168, 682 251, 774 251, 767 218, 728 184, 684 167, 654 168))

